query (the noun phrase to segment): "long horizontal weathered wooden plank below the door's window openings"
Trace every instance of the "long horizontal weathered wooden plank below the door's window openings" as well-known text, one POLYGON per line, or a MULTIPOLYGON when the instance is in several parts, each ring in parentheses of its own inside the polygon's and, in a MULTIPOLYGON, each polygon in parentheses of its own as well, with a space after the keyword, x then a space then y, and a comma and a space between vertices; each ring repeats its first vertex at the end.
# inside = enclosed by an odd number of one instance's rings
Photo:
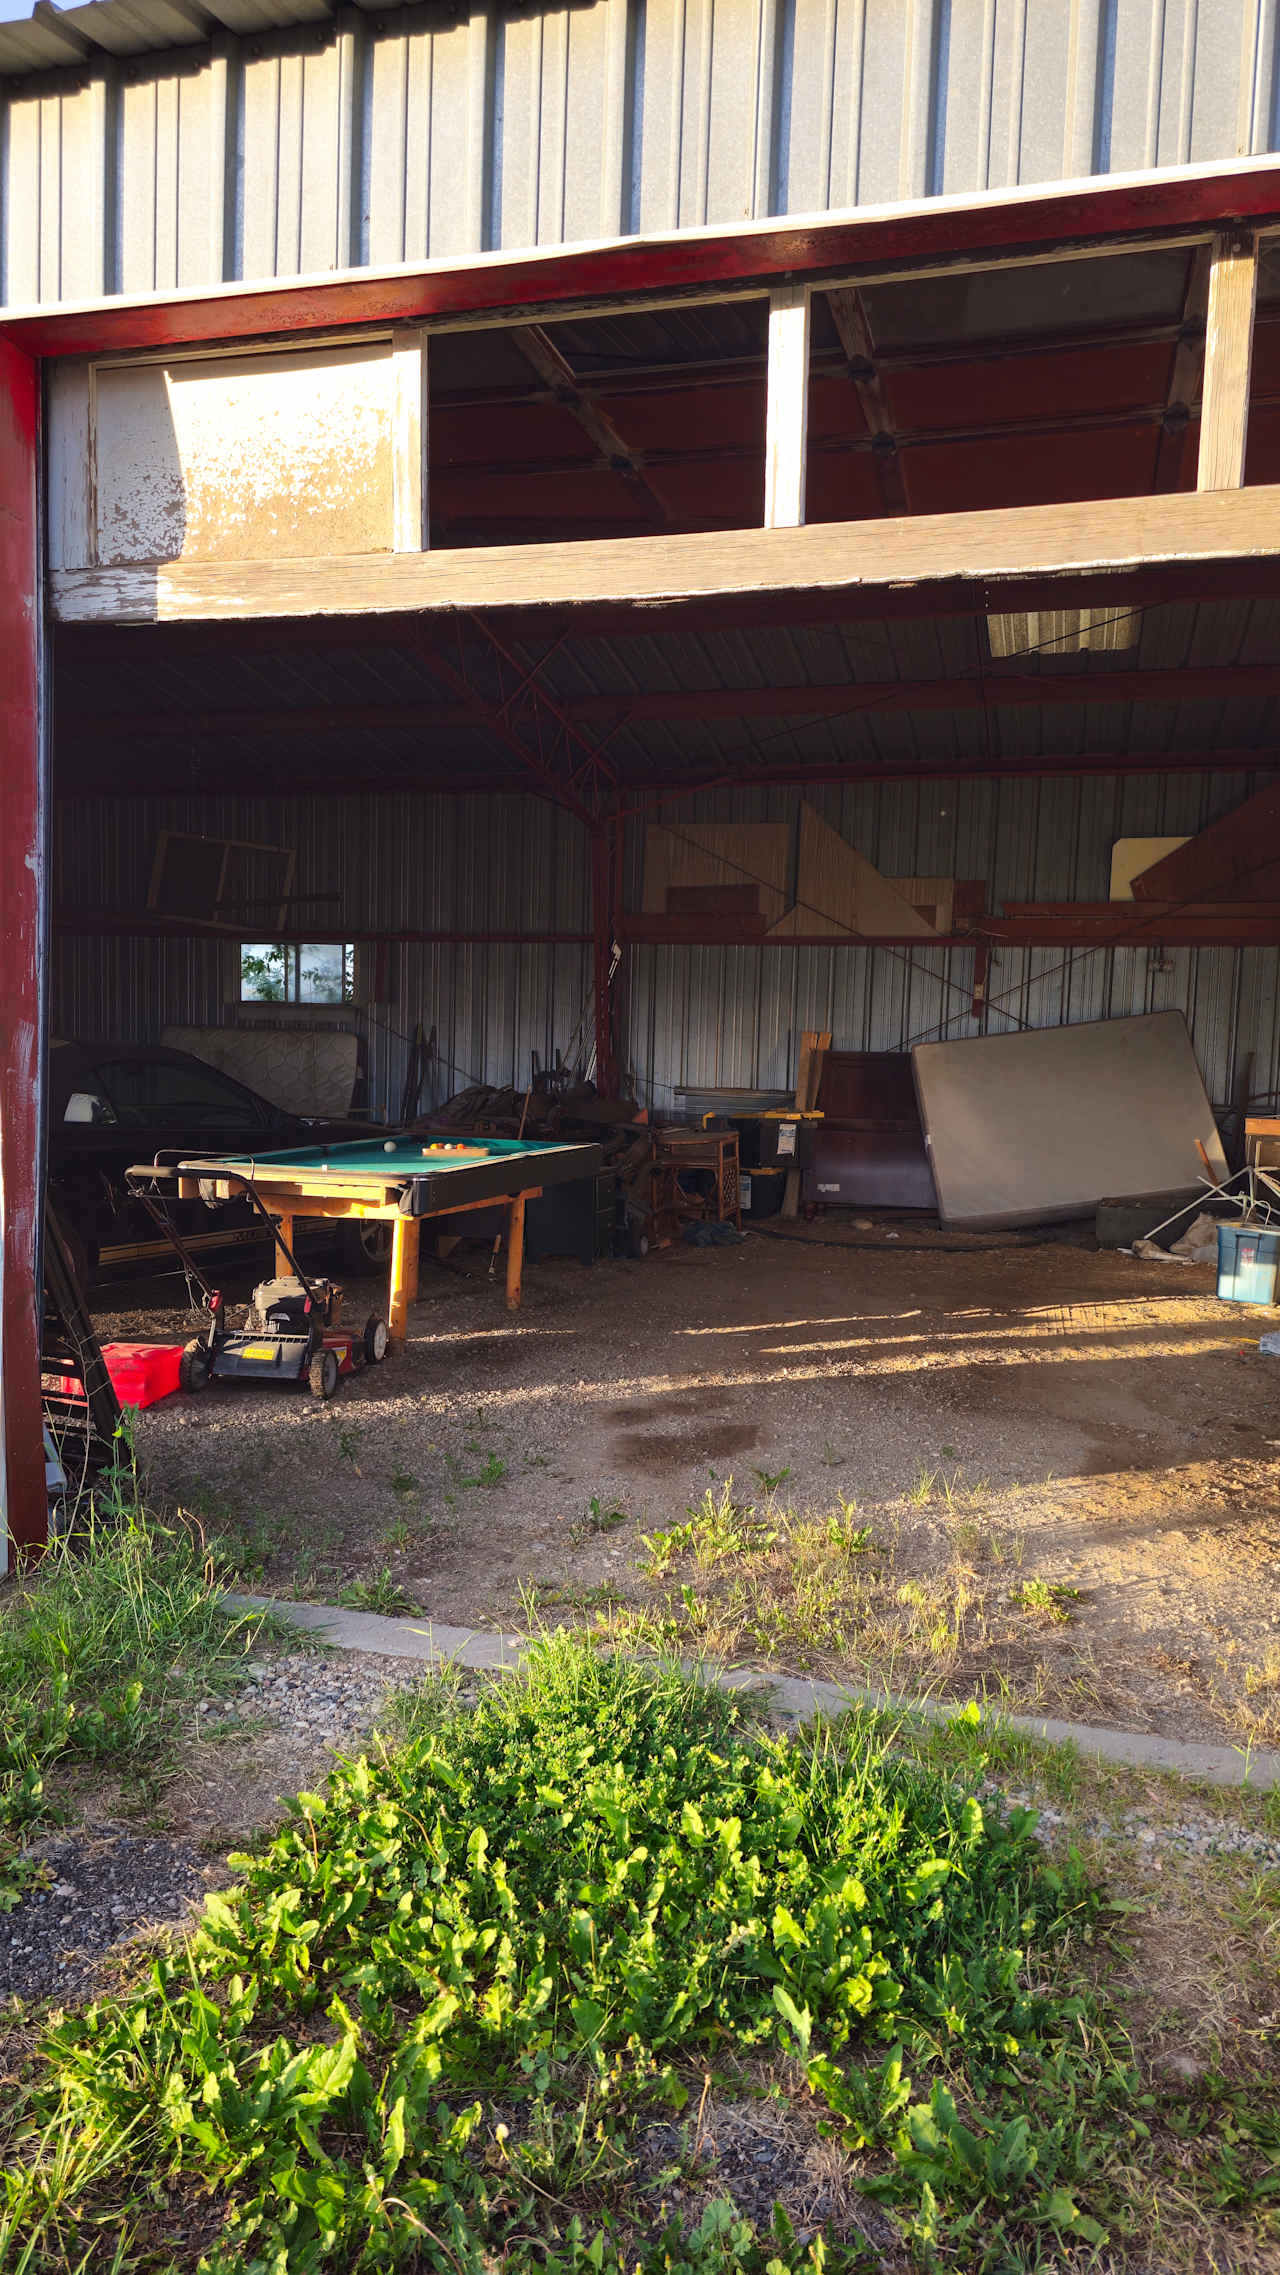
MULTIPOLYGON (((900 521, 816 521, 809 528, 700 530, 671 537, 596 537, 559 546, 471 546, 282 562, 166 562, 64 569, 50 576, 61 623, 173 623, 248 617, 373 617, 389 610, 541 610, 634 603, 739 607, 780 594, 830 596, 841 612, 884 607, 903 582, 932 610, 955 587, 964 607, 1021 578, 1105 571, 1116 596, 1128 573, 1196 564, 1198 589, 1219 589, 1216 564, 1280 560, 1280 485, 1198 496, 1094 498, 900 521), (1203 582, 1200 582, 1203 580, 1203 582)), ((955 605, 955 603, 953 603, 955 605)), ((850 696, 855 692, 850 689, 850 696)))

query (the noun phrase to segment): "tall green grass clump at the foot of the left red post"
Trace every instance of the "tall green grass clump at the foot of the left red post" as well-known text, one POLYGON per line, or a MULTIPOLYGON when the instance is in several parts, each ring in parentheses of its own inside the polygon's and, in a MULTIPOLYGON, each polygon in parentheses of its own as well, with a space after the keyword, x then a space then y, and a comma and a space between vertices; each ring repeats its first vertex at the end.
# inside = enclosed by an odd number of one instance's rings
POLYGON ((239 1677, 264 1620, 225 1611, 221 1577, 193 1522, 143 1520, 123 1436, 77 1533, 0 1590, 0 1911, 34 1875, 57 1781, 159 1779, 184 1715, 239 1677))

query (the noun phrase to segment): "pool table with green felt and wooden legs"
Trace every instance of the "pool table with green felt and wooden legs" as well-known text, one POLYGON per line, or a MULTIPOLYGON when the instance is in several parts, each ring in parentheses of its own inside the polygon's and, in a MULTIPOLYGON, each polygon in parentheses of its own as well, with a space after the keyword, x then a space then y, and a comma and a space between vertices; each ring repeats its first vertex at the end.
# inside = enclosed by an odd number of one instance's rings
MULTIPOLYGON (((423 1217, 462 1217, 507 1203, 507 1308, 518 1310, 525 1201, 546 1185, 596 1176, 598 1144, 534 1144, 525 1138, 361 1138, 355 1144, 291 1147, 177 1163, 180 1199, 230 1201, 252 1183, 289 1247, 296 1217, 371 1217, 391 1224, 391 1342, 402 1345, 418 1294, 423 1217)), ((289 1263, 277 1256, 277 1269, 289 1263)))

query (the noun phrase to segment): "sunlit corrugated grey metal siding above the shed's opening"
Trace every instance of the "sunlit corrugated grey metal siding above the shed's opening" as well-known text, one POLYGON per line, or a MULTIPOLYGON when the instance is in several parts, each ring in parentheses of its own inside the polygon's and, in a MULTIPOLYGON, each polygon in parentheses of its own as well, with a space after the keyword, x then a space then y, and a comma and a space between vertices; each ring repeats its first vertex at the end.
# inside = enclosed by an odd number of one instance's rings
POLYGON ((207 0, 211 41, 166 0, 0 25, 0 298, 728 225, 1278 141, 1275 0, 309 14, 207 0))

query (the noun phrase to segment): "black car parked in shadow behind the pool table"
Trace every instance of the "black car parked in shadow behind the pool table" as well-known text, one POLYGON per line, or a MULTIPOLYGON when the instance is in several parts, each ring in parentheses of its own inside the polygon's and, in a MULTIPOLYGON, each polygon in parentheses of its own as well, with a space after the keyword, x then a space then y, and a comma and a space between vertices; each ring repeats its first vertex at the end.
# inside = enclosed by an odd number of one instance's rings
MULTIPOLYGON (((125 1185, 125 1169, 155 1153, 277 1153, 293 1144, 339 1144, 366 1138, 361 1122, 305 1122, 259 1099, 189 1051, 150 1042, 55 1042, 50 1046, 50 1194, 70 1233, 84 1279, 123 1265, 171 1265, 173 1249, 125 1185)), ((175 1203, 189 1247, 205 1251, 268 1247, 248 1201, 216 1213, 202 1201, 175 1203)), ((387 1263, 387 1224, 311 1226, 316 1240, 341 1242, 350 1274, 387 1263)))

